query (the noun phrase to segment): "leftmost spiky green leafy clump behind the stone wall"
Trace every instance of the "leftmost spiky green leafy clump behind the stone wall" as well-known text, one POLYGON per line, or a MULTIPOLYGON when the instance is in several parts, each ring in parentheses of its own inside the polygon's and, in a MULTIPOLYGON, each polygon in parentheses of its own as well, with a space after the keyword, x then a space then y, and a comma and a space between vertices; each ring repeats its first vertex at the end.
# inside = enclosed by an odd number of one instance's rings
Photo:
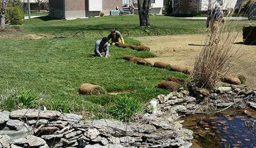
POLYGON ((34 96, 31 90, 26 90, 24 88, 14 97, 21 108, 35 107, 38 102, 38 96, 34 96))

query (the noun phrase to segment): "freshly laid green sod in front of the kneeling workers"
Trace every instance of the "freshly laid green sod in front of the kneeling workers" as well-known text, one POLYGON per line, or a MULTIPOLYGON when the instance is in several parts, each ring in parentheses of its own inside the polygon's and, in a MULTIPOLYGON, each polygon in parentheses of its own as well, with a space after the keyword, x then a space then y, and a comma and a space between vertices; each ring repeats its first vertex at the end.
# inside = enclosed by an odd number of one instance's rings
MULTIPOLYGON (((157 84, 168 75, 187 78, 182 73, 144 67, 122 59, 127 54, 137 57, 154 56, 150 52, 111 47, 110 58, 95 58, 92 54, 96 40, 77 37, 1 41, 0 89, 25 87, 35 95, 42 96, 40 102, 48 109, 89 111, 101 118, 107 116, 109 103, 118 96, 127 95, 146 102, 161 93, 168 93, 156 89, 157 84), (108 92, 131 92, 118 96, 82 96, 77 94, 82 83, 100 85, 108 92)), ((127 42, 137 43, 132 39, 127 39, 127 42)), ((0 106, 0 109, 15 108, 8 102, 0 106)))

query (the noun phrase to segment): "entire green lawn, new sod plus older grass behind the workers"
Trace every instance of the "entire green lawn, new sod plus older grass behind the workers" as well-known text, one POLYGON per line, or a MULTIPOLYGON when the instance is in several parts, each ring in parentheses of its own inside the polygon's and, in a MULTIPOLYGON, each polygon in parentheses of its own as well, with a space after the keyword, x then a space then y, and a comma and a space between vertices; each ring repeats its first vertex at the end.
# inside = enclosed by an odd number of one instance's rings
MULTIPOLYGON (((4 32, 0 36, 0 110, 17 109, 13 95, 7 90, 26 88, 41 99, 48 109, 85 113, 86 116, 109 117, 109 107, 119 96, 147 102, 159 94, 159 82, 168 75, 187 78, 188 75, 164 69, 129 63, 123 55, 155 56, 151 52, 111 47, 110 58, 95 58, 94 44, 115 28, 129 44, 140 44, 132 37, 148 35, 183 35, 206 32, 205 20, 186 20, 176 17, 150 16, 152 28, 139 27, 138 16, 91 17, 89 19, 56 20, 41 17, 26 20, 24 32, 4 32), (4 35, 9 35, 5 39, 4 35), (45 35, 44 39, 26 39, 26 35, 45 35), (53 38, 62 37, 62 38, 53 38), (12 39, 10 39, 12 38, 12 39), (91 83, 108 92, 128 92, 119 95, 82 96, 80 84, 91 83), (7 95, 6 95, 7 94, 7 95)), ((19 98, 19 97, 18 97, 19 98)), ((16 97, 17 99, 17 97, 16 97)), ((20 99, 29 99, 20 97, 20 99)), ((118 99, 122 100, 122 99, 118 99)))

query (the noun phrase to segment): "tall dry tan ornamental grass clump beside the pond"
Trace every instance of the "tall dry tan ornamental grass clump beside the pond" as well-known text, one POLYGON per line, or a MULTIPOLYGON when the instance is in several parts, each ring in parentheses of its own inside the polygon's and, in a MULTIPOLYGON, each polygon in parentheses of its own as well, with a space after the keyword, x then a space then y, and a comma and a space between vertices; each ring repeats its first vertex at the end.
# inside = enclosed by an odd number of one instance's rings
MULTIPOLYGON (((255 4, 255 0, 241 2, 240 9, 237 12, 240 14, 239 16, 248 15, 253 4, 255 4)), ((230 11, 224 13, 224 16, 229 18, 232 17, 233 13, 230 11)), ((218 22, 218 26, 212 32, 209 29, 204 46, 202 46, 196 58, 190 86, 213 90, 218 82, 221 81, 221 78, 232 73, 231 69, 238 59, 246 54, 238 52, 239 49, 234 48, 235 44, 233 44, 241 35, 241 32, 236 32, 235 30, 242 31, 245 22, 246 20, 226 19, 224 23, 218 22)))

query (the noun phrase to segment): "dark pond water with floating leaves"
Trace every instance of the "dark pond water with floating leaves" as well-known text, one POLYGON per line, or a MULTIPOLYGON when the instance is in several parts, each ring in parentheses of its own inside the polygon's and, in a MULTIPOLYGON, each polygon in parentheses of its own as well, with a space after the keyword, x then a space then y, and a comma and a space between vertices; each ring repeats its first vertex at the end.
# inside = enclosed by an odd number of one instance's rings
POLYGON ((182 119, 184 126, 194 131, 193 148, 256 148, 256 118, 241 112, 225 114, 182 119))

